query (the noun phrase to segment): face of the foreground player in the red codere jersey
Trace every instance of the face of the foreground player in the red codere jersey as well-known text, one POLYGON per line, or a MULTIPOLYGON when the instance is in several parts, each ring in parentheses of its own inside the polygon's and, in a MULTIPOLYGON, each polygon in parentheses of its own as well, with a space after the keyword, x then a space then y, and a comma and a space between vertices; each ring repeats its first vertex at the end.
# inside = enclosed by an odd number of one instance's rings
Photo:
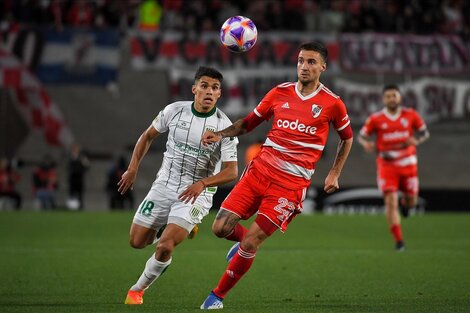
POLYGON ((315 82, 326 70, 326 63, 320 53, 310 50, 300 50, 297 59, 297 76, 299 82, 306 85, 315 82))

